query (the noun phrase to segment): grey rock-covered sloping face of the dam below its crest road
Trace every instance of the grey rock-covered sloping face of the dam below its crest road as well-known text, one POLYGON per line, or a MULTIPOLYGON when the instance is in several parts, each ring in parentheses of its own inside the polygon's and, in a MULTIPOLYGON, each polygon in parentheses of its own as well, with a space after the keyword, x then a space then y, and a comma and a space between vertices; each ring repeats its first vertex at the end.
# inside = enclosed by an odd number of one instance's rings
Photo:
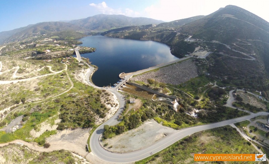
POLYGON ((143 81, 147 83, 147 79, 155 79, 157 82, 178 85, 184 83, 191 78, 198 76, 198 67, 192 60, 185 60, 180 63, 172 64, 158 71, 148 72, 133 77, 133 81, 143 81))

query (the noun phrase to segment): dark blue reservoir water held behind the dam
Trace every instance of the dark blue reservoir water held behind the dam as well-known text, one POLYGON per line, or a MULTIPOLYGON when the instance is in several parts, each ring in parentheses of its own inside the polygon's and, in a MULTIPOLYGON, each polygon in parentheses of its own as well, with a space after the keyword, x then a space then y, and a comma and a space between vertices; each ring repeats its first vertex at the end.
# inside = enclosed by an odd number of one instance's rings
POLYGON ((138 41, 130 39, 109 38, 101 35, 79 39, 80 46, 94 47, 93 53, 81 54, 89 58, 91 64, 98 66, 92 75, 92 82, 97 86, 111 86, 120 78, 121 72, 135 72, 176 60, 170 48, 155 41, 138 41))

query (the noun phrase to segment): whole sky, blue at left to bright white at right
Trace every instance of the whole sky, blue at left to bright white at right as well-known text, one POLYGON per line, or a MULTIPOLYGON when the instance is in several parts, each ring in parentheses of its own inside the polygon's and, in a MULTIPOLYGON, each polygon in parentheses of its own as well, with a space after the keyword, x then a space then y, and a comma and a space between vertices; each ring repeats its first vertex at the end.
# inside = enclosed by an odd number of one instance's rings
POLYGON ((208 15, 227 5, 242 7, 269 22, 269 0, 0 0, 0 32, 45 21, 121 14, 174 21, 208 15))

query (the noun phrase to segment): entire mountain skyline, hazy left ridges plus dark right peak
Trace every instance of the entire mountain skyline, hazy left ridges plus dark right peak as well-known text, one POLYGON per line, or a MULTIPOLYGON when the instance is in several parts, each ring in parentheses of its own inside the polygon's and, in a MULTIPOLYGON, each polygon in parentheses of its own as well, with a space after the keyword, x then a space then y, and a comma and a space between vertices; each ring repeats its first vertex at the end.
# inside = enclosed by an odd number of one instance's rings
POLYGON ((111 37, 160 41, 178 57, 213 52, 206 61, 197 61, 200 73, 208 72, 229 85, 268 87, 269 23, 237 6, 171 22, 104 14, 68 22, 42 22, 1 32, 0 44, 67 31, 76 37, 103 31, 102 35, 111 37))

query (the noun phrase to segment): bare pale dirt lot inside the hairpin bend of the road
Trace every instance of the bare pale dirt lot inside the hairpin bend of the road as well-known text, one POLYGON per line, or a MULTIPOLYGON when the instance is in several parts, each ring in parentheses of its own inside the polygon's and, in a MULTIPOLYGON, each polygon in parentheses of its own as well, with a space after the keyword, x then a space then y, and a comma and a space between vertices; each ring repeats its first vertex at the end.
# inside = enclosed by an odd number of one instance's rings
POLYGON ((130 152, 146 148, 161 138, 176 132, 175 129, 162 126, 151 119, 141 124, 136 129, 132 129, 111 139, 100 140, 100 144, 105 149, 113 152, 130 152), (110 148, 111 147, 111 148, 110 148))

